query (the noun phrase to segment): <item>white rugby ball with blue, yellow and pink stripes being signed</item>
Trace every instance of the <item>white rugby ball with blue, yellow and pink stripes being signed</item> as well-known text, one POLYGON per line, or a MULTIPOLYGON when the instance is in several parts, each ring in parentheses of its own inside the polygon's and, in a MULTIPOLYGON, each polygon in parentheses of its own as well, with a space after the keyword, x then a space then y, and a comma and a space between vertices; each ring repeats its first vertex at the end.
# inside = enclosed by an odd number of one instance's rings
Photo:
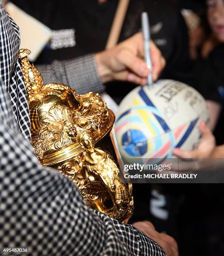
POLYGON ((136 87, 120 103, 115 134, 123 159, 172 158, 175 147, 195 148, 199 123, 209 123, 206 101, 194 88, 159 80, 152 88, 136 87))

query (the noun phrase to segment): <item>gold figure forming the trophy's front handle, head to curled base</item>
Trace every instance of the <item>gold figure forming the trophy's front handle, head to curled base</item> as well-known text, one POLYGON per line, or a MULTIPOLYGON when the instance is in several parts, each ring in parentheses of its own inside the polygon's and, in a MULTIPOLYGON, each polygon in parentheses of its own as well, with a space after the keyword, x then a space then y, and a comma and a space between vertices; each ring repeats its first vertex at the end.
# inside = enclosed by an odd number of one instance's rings
POLYGON ((125 215, 129 216, 133 210, 133 204, 130 202, 132 187, 120 182, 119 169, 111 154, 100 148, 94 148, 90 131, 82 131, 76 136, 76 140, 84 149, 79 163, 82 165, 85 178, 92 184, 103 182, 106 188, 104 197, 99 197, 97 201, 98 208, 107 211, 108 215, 113 214, 117 219, 125 215), (111 201, 112 205, 108 207, 111 201))

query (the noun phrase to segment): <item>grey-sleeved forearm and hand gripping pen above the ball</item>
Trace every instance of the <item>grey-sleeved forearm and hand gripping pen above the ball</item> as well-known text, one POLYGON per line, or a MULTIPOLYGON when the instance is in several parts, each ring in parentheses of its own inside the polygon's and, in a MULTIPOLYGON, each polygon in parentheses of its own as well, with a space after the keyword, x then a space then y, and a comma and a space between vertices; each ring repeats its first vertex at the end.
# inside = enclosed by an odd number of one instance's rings
MULTIPOLYGON (((156 80, 165 66, 165 59, 153 42, 151 55, 153 79, 156 80)), ((112 49, 36 67, 44 83, 56 81, 69 84, 77 93, 102 92, 103 83, 113 80, 145 85, 149 70, 143 59, 143 36, 137 33, 112 49)))

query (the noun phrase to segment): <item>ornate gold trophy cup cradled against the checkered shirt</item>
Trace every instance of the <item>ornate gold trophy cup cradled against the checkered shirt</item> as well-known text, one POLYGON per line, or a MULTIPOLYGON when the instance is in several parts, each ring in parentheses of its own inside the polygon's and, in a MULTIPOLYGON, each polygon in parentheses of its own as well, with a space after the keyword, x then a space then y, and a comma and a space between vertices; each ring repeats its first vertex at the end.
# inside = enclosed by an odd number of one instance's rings
POLYGON ((127 221, 133 212, 132 184, 120 181, 114 113, 98 93, 78 95, 66 84, 43 84, 28 54, 28 49, 19 51, 35 155, 69 177, 89 207, 127 221))

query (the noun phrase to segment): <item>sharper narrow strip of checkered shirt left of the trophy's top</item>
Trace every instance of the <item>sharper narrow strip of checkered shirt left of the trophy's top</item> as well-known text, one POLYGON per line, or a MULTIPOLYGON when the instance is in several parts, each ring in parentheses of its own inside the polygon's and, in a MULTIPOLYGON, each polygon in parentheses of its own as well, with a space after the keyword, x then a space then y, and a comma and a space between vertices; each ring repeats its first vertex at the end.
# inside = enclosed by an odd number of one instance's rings
POLYGON ((0 1, 0 79, 5 87, 13 115, 24 137, 31 139, 30 118, 23 73, 18 61, 20 31, 0 1))

